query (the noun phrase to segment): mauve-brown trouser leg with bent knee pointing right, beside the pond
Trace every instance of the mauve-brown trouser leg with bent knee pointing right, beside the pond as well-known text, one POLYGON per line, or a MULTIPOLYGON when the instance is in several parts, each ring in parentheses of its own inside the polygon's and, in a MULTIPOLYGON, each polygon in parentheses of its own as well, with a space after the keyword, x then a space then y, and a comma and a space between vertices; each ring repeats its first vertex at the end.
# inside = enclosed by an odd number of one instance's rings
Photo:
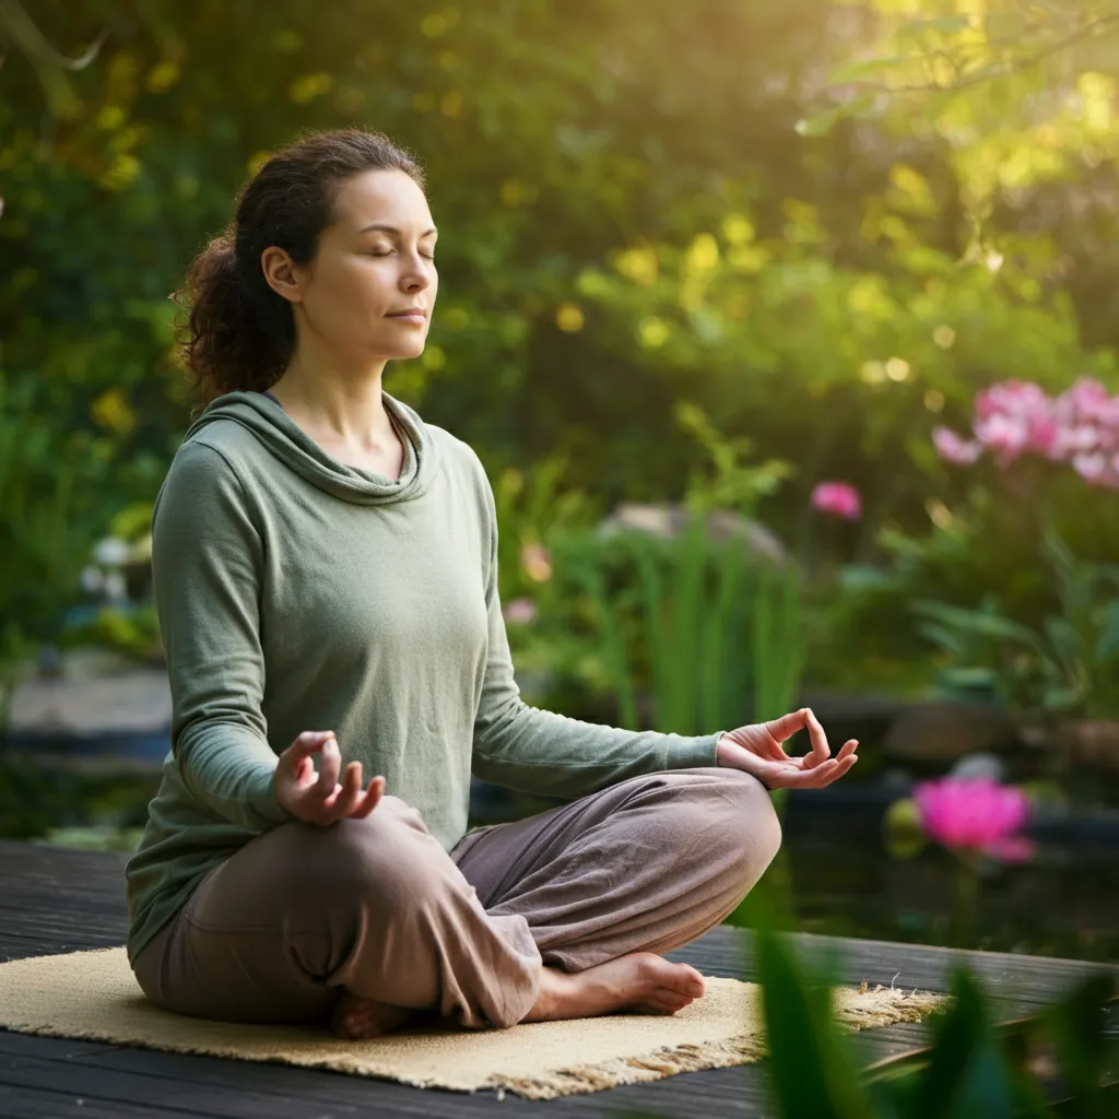
POLYGON ((718 924, 777 854, 769 792, 734 769, 630 778, 451 852, 491 916, 521 916, 545 963, 666 952, 718 924))

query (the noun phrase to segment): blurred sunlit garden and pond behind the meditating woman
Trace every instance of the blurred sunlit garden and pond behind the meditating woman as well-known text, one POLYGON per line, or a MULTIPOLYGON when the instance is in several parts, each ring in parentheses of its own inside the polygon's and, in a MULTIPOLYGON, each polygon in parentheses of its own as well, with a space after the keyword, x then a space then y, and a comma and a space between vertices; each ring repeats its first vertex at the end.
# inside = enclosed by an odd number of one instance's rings
POLYGON ((427 170, 440 299, 385 384, 486 463, 526 699, 683 733, 811 703, 863 745, 783 799, 788 921, 1113 957, 1117 30, 0 0, 0 835, 138 840, 170 297, 275 145, 357 124, 427 170))

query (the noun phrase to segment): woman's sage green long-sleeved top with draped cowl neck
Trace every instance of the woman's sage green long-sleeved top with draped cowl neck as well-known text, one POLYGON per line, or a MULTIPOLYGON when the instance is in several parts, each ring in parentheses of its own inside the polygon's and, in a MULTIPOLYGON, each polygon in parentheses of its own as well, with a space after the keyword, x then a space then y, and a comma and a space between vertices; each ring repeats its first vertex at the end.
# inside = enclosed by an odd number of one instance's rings
POLYGON ((573 798, 715 765, 685 737, 524 703, 497 589, 497 515, 474 452, 383 394, 399 479, 345 466, 272 397, 228 393, 188 430, 156 500, 152 574, 171 750, 125 868, 129 959, 199 880, 294 817, 278 755, 337 732, 342 765, 419 809, 445 850, 470 775, 573 798))

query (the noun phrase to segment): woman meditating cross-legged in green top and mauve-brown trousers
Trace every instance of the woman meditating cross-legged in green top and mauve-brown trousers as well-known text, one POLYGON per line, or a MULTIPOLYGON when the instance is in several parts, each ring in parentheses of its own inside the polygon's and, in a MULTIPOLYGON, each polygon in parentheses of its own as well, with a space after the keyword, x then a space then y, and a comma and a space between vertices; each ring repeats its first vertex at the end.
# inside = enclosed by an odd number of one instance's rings
POLYGON ((855 762, 810 712, 685 737, 520 699, 482 467, 382 387, 423 351, 435 239, 406 152, 309 134, 188 274, 208 405, 153 516, 172 749, 126 867, 132 968, 184 1014, 670 1014, 703 980, 659 953, 777 853, 767 787, 855 762), (467 835, 471 772, 573 799, 467 835))

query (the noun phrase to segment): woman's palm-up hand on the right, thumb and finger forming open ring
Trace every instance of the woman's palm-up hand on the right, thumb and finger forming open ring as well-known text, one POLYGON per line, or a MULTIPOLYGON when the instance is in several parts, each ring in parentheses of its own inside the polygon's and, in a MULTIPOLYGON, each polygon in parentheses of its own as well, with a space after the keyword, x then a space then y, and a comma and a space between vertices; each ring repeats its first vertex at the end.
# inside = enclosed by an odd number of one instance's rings
POLYGON ((858 761, 857 745, 850 739, 833 758, 819 720, 811 708, 801 707, 768 723, 740 726, 724 734, 715 747, 715 758, 720 765, 753 774, 768 789, 822 789, 858 761), (801 758, 790 758, 781 743, 806 726, 812 749, 801 758))

